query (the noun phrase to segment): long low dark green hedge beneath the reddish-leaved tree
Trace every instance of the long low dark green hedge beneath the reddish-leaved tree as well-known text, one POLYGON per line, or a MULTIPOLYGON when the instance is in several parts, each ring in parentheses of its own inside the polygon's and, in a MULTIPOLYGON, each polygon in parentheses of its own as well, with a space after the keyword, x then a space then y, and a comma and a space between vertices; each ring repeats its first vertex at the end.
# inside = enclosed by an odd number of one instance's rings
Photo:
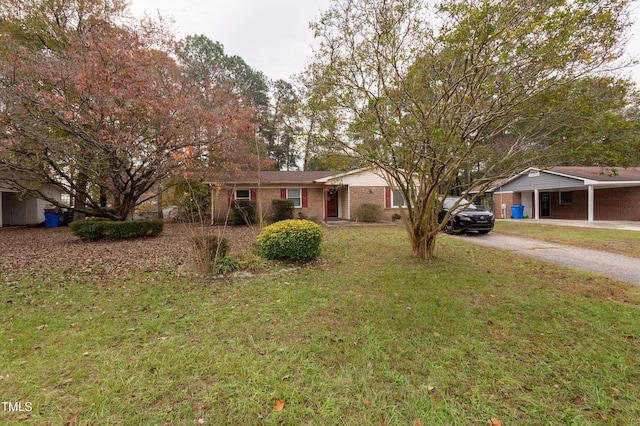
POLYGON ((159 235, 164 229, 160 219, 129 220, 109 219, 76 220, 69 224, 73 235, 84 240, 98 241, 104 238, 128 239, 159 235))

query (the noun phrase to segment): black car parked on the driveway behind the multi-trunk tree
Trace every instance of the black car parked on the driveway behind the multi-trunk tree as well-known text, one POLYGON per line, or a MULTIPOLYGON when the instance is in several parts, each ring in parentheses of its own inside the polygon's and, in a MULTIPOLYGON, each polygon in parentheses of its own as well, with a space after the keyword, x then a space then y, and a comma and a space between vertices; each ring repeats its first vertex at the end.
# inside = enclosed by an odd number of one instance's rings
POLYGON ((444 227, 446 233, 478 232, 480 234, 486 234, 493 229, 495 223, 493 213, 485 210, 483 207, 457 197, 446 197, 444 199, 442 210, 440 210, 438 214, 438 223, 443 222, 447 212, 456 204, 457 207, 444 227))

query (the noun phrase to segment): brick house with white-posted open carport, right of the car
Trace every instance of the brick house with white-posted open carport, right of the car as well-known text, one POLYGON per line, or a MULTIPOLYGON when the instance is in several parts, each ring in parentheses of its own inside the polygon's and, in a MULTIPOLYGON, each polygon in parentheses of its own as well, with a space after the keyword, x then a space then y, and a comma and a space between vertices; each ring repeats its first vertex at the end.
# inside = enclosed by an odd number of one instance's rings
POLYGON ((530 167, 492 188, 496 217, 523 205, 532 219, 640 220, 640 168, 614 170, 530 167))

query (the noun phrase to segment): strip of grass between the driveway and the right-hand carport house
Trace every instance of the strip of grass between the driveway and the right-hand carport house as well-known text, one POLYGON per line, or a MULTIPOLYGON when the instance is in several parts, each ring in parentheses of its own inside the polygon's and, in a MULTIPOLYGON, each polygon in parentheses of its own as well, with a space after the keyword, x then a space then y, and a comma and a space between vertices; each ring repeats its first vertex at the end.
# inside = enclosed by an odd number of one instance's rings
POLYGON ((495 232, 640 258, 640 232, 498 220, 495 232))

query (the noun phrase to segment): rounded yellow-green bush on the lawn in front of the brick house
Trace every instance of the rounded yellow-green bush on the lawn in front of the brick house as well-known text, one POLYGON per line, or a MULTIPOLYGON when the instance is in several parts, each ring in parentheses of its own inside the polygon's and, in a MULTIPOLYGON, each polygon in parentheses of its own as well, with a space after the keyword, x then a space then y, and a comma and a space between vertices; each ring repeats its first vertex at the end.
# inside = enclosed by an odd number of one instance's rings
POLYGON ((267 259, 311 260, 320 255, 322 229, 309 220, 276 222, 258 235, 258 248, 267 259))

